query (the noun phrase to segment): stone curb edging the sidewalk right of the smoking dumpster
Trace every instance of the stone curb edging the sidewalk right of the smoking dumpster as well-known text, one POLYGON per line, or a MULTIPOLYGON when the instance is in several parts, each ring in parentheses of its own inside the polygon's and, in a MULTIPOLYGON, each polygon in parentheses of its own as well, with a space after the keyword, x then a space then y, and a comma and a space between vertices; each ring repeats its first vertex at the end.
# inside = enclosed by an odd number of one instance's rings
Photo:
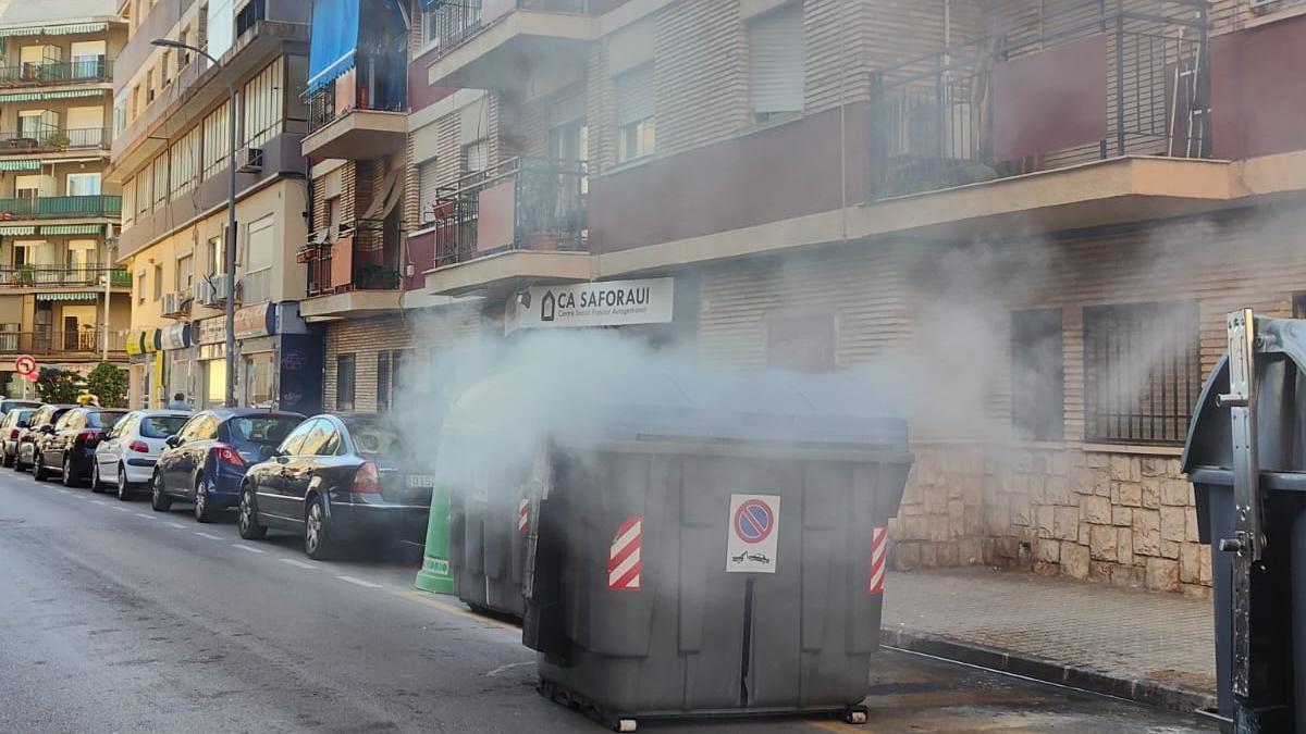
POLYGON ((1011 653, 910 630, 880 630, 880 644, 956 662, 1024 675, 1036 680, 1106 694, 1140 704, 1192 713, 1216 705, 1215 694, 1158 680, 1128 678, 1093 667, 1057 662, 1033 654, 1011 653))

